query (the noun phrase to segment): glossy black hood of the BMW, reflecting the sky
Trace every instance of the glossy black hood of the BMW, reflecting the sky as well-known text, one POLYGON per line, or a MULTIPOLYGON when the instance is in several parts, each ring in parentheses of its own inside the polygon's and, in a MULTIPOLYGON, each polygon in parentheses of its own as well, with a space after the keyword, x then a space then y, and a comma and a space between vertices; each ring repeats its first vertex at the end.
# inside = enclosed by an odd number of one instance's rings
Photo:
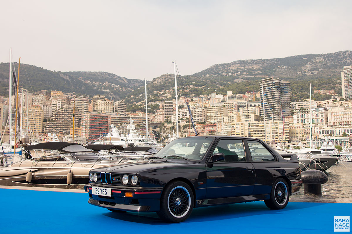
POLYGON ((153 170, 166 167, 182 167, 186 165, 194 165, 199 162, 186 161, 183 159, 153 159, 144 162, 128 163, 117 166, 107 166, 93 169, 94 172, 116 172, 137 174, 141 171, 153 170))

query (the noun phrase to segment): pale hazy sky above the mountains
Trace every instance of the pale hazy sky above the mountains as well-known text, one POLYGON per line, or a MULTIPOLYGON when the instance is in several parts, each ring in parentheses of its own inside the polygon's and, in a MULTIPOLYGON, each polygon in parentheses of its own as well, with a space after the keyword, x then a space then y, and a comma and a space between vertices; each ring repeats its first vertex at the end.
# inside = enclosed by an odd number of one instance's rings
POLYGON ((152 80, 216 63, 352 50, 352 1, 4 1, 0 62, 152 80))

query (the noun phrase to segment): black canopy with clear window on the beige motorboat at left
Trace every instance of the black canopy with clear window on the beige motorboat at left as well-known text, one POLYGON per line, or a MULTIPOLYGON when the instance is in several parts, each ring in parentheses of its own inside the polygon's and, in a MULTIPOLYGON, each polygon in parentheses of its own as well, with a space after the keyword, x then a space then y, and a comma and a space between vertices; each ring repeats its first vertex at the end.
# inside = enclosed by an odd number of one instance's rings
POLYGON ((90 152, 92 150, 85 148, 77 143, 69 142, 44 142, 37 145, 30 145, 25 148, 26 151, 34 149, 54 149, 62 152, 90 152))

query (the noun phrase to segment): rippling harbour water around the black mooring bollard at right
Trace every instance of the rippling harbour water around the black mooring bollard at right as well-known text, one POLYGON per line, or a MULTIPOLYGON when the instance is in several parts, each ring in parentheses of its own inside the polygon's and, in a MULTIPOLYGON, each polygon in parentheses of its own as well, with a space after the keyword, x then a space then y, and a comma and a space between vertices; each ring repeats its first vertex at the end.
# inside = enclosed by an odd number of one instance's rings
MULTIPOLYGON (((352 162, 339 162, 326 172, 328 182, 321 185, 321 193, 325 198, 352 198, 352 162)), ((304 196, 304 185, 300 193, 293 198, 304 196)))

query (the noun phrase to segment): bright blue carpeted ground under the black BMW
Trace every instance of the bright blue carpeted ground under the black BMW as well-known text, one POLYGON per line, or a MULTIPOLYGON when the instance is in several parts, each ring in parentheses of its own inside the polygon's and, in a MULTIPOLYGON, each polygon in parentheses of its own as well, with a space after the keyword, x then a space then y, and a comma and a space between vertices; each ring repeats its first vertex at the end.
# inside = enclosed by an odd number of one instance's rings
POLYGON ((183 223, 155 213, 117 214, 89 205, 85 193, 0 189, 0 233, 332 233, 334 216, 350 203, 289 202, 270 210, 263 201, 197 208, 183 223))

